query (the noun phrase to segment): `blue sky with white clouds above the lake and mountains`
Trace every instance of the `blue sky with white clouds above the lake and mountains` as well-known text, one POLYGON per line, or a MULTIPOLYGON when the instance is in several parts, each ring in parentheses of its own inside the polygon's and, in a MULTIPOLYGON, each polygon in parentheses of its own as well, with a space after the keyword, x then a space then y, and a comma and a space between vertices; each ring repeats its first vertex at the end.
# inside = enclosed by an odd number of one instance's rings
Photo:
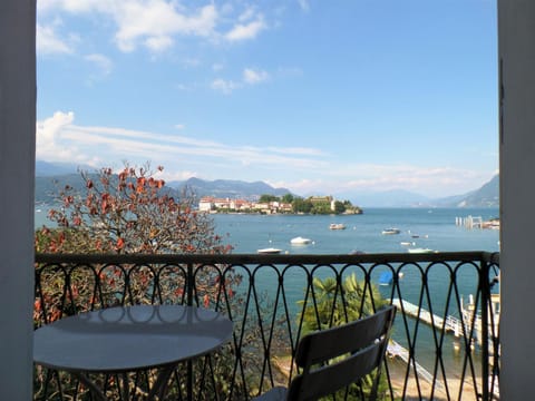
POLYGON ((495 0, 38 0, 38 160, 299 195, 498 173, 495 0))

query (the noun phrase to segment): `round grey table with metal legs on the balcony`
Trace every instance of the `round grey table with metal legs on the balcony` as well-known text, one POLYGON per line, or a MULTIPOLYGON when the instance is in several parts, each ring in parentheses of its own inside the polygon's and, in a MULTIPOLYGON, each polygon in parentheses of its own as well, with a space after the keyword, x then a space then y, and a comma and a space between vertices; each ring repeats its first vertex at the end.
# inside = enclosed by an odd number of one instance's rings
MULTIPOLYGON (((33 333, 33 361, 76 374, 97 397, 86 373, 163 368, 150 391, 162 394, 178 362, 207 354, 232 336, 218 312, 183 305, 110 307, 58 320, 33 333)), ((149 397, 150 398, 150 397, 149 397)))

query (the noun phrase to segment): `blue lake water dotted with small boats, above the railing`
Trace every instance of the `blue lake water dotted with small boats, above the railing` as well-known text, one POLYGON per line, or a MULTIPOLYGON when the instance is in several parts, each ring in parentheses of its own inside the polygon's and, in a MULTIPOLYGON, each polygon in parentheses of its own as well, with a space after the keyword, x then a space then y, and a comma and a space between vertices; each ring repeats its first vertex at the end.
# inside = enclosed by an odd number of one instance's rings
POLYGON ((348 254, 407 252, 401 242, 415 243, 412 247, 435 251, 499 251, 499 232, 495 229, 467 229, 456 226, 456 217, 498 216, 498 209, 458 208, 367 208, 362 215, 214 215, 216 231, 228 234, 233 253, 256 253, 259 248, 276 247, 290 254, 348 254), (329 229, 331 223, 343 223, 347 229, 329 229), (399 235, 382 235, 388 227, 397 227, 399 235), (418 238, 414 238, 418 235, 418 238), (296 236, 313 241, 295 246, 290 239, 296 236))

